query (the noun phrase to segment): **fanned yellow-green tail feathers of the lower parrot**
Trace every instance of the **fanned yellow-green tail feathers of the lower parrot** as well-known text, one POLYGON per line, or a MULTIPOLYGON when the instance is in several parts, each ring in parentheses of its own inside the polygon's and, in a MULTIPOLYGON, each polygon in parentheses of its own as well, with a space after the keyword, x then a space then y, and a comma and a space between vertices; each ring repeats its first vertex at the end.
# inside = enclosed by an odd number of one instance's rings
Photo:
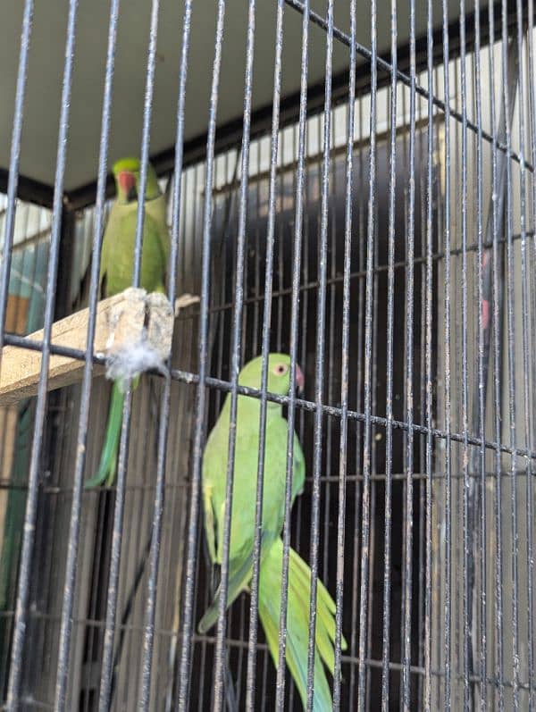
MULTIPOLYGON (((259 585, 259 617, 263 624, 268 647, 277 666, 279 659, 279 622, 281 607, 281 568, 283 542, 275 540, 261 566, 259 585)), ((309 639, 309 599, 311 569, 290 549, 289 596, 287 607, 287 665, 302 704, 307 699, 307 645, 309 639)), ((333 708, 331 689, 324 665, 333 674, 335 667, 335 603, 321 581, 316 596, 316 649, 314 654, 314 712, 330 712, 333 708), (323 663, 323 664, 322 664, 323 663)), ((342 639, 342 649, 347 642, 342 639)))

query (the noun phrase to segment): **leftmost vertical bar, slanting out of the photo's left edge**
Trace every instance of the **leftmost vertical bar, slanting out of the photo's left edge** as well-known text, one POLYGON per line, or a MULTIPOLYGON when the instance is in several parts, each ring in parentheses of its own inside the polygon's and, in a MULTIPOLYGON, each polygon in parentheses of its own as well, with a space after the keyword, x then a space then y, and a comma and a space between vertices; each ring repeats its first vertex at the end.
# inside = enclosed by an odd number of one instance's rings
POLYGON ((0 368, 2 367, 2 349, 4 348, 5 312, 7 309, 7 290, 11 272, 13 232, 17 211, 17 188, 19 185, 19 158, 21 155, 22 119, 24 116, 24 95, 26 75, 28 73, 29 38, 33 21, 33 0, 26 0, 22 14, 21 54, 17 70, 17 88, 15 93, 15 111, 11 154, 9 159, 9 178, 7 182, 7 207, 5 209, 4 247, 0 266, 0 368))

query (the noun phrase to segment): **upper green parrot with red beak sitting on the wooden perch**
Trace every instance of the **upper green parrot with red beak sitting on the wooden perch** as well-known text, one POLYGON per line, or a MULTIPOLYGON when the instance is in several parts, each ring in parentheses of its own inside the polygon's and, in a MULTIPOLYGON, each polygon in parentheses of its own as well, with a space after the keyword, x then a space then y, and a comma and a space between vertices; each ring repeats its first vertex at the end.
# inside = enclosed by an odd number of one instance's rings
MULTIPOLYGON (((138 158, 122 158, 113 165, 117 197, 106 225, 100 265, 100 286, 103 297, 127 289, 132 284, 136 224, 138 222, 138 158)), ((165 273, 170 252, 170 233, 166 223, 165 198, 158 185, 155 169, 147 166, 143 250, 140 286, 148 292, 164 291, 165 273)), ((138 378, 134 380, 134 388, 138 378)), ((124 393, 118 381, 113 382, 112 397, 105 431, 105 444, 96 474, 86 487, 98 487, 105 481, 113 483, 121 434, 124 393)))

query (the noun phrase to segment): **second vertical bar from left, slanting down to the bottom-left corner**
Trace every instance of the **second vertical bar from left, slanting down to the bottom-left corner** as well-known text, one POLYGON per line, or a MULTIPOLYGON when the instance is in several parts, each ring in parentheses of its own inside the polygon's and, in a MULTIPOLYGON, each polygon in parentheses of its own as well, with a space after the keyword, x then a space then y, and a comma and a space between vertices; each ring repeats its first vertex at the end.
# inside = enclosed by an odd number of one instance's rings
MULTIPOLYGON (((39 485, 39 465, 41 459, 41 445, 45 428, 46 416, 46 386, 48 381, 48 364, 50 360, 50 341, 52 333, 52 323, 54 321, 55 302, 55 281, 57 276, 58 255, 60 248, 60 236, 62 227, 63 210, 63 174, 65 172, 65 162, 67 155, 67 137, 69 133, 69 110, 71 105, 71 83, 72 66, 74 58, 74 45, 76 37, 76 19, 78 10, 78 0, 71 0, 69 4, 69 17, 67 21, 67 38, 65 43, 65 64, 63 68, 62 104, 60 112, 60 127, 58 135, 58 149, 56 156, 56 171, 54 177, 54 207, 52 234, 50 240, 50 252, 48 256, 47 271, 47 291, 45 320, 43 330, 43 356, 41 360, 41 372, 39 375, 38 399, 36 405, 34 435, 31 449, 31 460, 29 464, 28 478, 28 498, 26 500, 26 511, 24 514, 24 534, 21 546, 21 563, 19 567, 19 584, 17 591, 17 605, 15 610, 12 660, 9 674, 7 691, 7 707, 13 712, 19 708, 21 699, 21 674, 24 652, 24 641, 26 637, 26 626, 29 605, 29 582, 31 578, 31 559, 33 553, 36 521, 38 516, 38 485, 39 485)), ((29 17, 27 18, 29 22, 29 17)), ((28 29, 29 31, 29 29, 28 29)), ((24 44, 23 54, 28 50, 27 43, 24 44)), ((26 58, 25 58, 26 62, 26 58)), ((25 70, 25 64, 22 68, 25 70)), ((23 80, 21 80, 21 105, 23 99, 23 80)), ((20 121, 21 121, 20 115, 20 121)), ((16 127, 13 127, 14 129, 16 127)), ((20 140, 20 137, 19 137, 20 140)), ((18 169, 18 161, 14 163, 15 172, 18 169)), ((11 180, 11 176, 10 176, 11 180)), ((14 177, 13 177, 14 180, 14 177)), ((13 207, 14 211, 14 207, 13 207)), ((13 212, 14 219, 14 212, 13 212)), ((8 236, 9 237, 9 236, 8 236)), ((11 244, 8 246, 11 248, 11 244)), ((6 257, 4 253, 4 258, 6 257)), ((6 285, 7 287, 7 285, 6 285)))

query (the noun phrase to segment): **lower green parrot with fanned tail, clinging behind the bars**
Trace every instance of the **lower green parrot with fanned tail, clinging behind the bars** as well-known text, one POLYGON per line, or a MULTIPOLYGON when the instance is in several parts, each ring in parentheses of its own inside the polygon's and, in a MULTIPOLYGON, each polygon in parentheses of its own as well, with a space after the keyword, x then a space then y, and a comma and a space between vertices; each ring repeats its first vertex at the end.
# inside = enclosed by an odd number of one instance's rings
MULTIPOLYGON (((262 357, 244 366, 239 384, 261 387, 262 357)), ((286 354, 270 354, 268 390, 287 395, 290 382, 290 358, 286 354)), ((297 386, 303 387, 303 374, 297 367, 297 386)), ((232 511, 230 520, 230 558, 227 606, 246 591, 253 569, 255 537, 256 476, 259 449, 260 400, 239 396, 236 428, 236 449, 232 511)), ((287 421, 281 405, 269 402, 266 412, 266 444, 264 457, 264 495, 261 534, 261 568, 259 577, 259 619, 266 641, 277 666, 279 658, 279 622, 281 606, 281 570, 283 543, 281 529, 285 508, 287 471, 287 421)), ((225 484, 230 429, 230 395, 223 404, 214 429, 205 446, 203 457, 203 499, 205 534, 210 557, 222 564, 222 540, 225 512, 225 484)), ((294 435, 294 469, 292 499, 304 488, 306 466, 304 455, 294 435)), ((306 707, 307 645, 311 570, 296 551, 289 555, 289 596, 287 608, 287 665, 306 707)), ((208 631, 218 617, 220 588, 212 605, 206 610, 198 630, 208 631)), ((331 690, 322 662, 333 674, 335 640, 335 604, 322 582, 318 582, 316 604, 316 638, 314 661, 314 710, 331 710, 331 690)), ((346 641, 343 639, 343 649, 346 641)))

